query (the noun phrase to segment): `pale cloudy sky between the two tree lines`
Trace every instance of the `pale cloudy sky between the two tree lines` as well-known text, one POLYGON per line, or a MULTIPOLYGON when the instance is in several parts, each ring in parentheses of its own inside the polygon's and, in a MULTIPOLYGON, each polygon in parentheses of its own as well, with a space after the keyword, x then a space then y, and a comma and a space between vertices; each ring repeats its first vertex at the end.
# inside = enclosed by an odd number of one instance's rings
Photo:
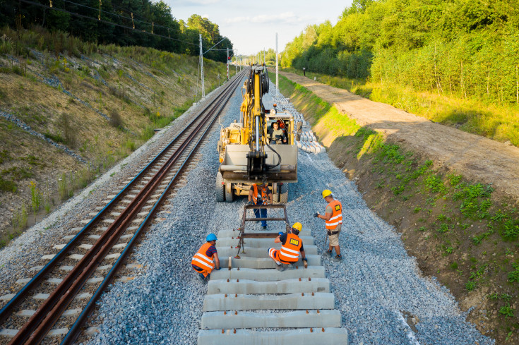
POLYGON ((236 54, 252 55, 263 49, 278 52, 299 35, 307 25, 326 20, 335 25, 352 0, 164 0, 177 20, 187 22, 192 14, 208 18, 220 27, 220 35, 234 44, 236 54))

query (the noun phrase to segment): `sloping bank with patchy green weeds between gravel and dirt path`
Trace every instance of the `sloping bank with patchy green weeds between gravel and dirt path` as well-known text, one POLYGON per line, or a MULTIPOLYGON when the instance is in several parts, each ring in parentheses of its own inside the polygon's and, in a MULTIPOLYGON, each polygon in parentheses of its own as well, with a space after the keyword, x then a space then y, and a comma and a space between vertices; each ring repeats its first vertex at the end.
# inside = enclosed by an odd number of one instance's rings
POLYGON ((367 204, 402 232, 425 274, 438 277, 468 320, 503 344, 519 339, 519 213, 491 186, 467 181, 383 135, 309 90, 280 78, 330 157, 355 178, 367 204))

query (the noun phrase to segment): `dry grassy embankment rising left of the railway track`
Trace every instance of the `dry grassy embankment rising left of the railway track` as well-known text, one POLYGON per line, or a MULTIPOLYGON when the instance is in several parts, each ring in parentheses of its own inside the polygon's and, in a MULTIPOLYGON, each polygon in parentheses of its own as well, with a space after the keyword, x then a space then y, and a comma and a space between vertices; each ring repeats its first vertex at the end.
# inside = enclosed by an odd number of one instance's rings
MULTIPOLYGON (((226 66, 204 65, 208 93, 226 66)), ((1 29, 0 110, 87 164, 0 117, 0 248, 200 99, 197 73, 196 56, 1 29)))

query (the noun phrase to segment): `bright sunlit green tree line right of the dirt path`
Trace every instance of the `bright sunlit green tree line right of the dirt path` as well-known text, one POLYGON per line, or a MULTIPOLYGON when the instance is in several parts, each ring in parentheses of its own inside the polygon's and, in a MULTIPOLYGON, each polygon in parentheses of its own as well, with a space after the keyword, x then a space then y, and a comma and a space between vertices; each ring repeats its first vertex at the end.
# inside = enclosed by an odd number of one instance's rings
POLYGON ((310 25, 282 66, 519 104, 516 0, 354 0, 310 25))

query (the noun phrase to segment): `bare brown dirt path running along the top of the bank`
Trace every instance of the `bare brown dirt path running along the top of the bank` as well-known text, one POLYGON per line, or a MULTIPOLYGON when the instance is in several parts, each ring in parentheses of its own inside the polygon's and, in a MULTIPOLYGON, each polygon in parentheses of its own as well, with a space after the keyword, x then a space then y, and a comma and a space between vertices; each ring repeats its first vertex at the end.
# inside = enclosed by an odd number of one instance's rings
POLYGON ((423 153, 467 178, 492 183, 494 188, 519 200, 518 147, 433 123, 389 104, 373 102, 301 75, 280 74, 335 105, 360 126, 369 126, 389 140, 423 153))

